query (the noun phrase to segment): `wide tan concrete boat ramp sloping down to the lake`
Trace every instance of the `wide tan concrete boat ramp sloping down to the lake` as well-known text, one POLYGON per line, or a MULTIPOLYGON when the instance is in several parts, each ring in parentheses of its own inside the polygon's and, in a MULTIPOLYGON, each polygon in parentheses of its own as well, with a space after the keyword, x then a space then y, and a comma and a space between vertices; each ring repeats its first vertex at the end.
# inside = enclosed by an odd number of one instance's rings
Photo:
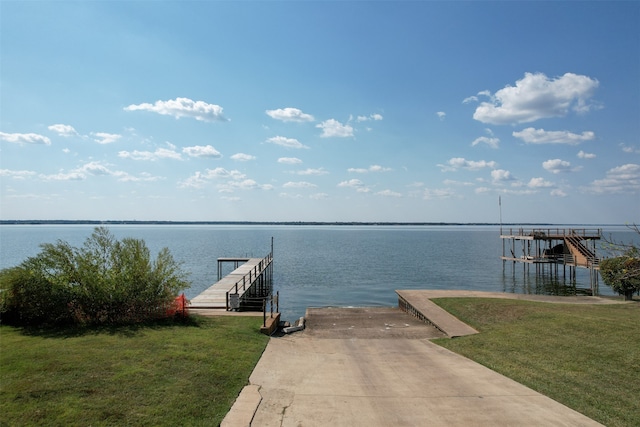
POLYGON ((433 344, 475 333, 430 311, 430 297, 462 295, 508 294, 398 291, 399 305, 424 319, 400 308, 308 309, 306 330, 269 341, 222 426, 600 425, 433 344))

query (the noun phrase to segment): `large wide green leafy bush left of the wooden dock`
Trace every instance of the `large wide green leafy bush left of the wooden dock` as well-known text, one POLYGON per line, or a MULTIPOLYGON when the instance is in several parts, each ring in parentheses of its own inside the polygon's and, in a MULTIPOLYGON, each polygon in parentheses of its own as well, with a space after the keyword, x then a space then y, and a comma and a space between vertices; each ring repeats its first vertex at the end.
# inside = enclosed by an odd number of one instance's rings
POLYGON ((151 259, 145 242, 116 240, 97 227, 82 248, 59 240, 0 272, 0 312, 19 324, 119 323, 162 317, 189 287, 167 248, 151 259))

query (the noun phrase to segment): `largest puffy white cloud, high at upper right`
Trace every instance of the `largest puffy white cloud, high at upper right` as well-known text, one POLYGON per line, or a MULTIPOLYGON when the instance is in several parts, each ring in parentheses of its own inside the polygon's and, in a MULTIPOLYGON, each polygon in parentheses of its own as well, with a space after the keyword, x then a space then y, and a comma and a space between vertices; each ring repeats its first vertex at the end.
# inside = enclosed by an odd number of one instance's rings
POLYGON ((490 102, 482 102, 473 118, 483 123, 505 125, 563 117, 570 110, 586 112, 592 108, 587 101, 598 85, 596 79, 573 73, 555 79, 542 73, 525 73, 516 81, 515 87, 506 86, 497 91, 490 102))

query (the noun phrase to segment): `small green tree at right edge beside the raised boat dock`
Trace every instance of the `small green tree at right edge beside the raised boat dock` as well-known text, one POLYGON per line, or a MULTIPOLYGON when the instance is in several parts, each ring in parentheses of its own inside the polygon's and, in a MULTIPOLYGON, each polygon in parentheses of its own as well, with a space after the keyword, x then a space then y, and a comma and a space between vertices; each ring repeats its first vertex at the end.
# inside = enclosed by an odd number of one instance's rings
MULTIPOLYGON (((630 226, 640 234, 637 225, 630 226)), ((610 252, 616 256, 600 261, 600 275, 607 286, 610 286, 625 300, 631 300, 634 293, 640 292, 640 248, 633 243, 607 241, 610 252)))

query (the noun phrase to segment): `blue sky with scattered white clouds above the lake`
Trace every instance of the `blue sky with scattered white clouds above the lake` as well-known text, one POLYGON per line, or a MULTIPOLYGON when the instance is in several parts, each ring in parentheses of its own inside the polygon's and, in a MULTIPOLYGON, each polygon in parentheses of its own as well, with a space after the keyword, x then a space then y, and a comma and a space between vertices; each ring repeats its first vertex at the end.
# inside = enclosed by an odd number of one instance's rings
POLYGON ((2 219, 640 222, 640 2, 0 19, 2 219))

